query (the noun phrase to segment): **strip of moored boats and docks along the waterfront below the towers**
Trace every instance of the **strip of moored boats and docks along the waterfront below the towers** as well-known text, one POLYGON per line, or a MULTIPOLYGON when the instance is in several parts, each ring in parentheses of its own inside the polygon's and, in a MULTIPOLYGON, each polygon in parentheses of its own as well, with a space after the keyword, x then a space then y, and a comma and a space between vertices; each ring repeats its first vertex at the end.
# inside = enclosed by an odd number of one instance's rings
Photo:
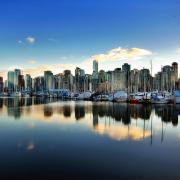
POLYGON ((56 98, 59 100, 85 100, 85 101, 109 101, 131 104, 178 104, 180 103, 180 91, 174 91, 172 94, 164 92, 139 92, 128 95, 125 91, 117 91, 110 94, 92 93, 90 91, 82 93, 72 93, 67 89, 51 90, 46 92, 14 92, 12 94, 0 94, 0 97, 42 97, 56 98))

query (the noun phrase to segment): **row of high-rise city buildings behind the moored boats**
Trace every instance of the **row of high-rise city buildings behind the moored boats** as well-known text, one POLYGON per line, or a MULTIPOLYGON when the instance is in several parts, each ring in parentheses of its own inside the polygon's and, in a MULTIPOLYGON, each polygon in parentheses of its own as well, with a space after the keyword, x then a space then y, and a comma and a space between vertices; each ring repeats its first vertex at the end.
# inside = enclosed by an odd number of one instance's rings
POLYGON ((131 69, 131 65, 124 63, 113 71, 99 70, 97 60, 93 61, 92 74, 86 74, 84 69, 76 67, 74 75, 71 70, 53 74, 44 71, 43 76, 32 78, 30 74, 23 74, 22 70, 8 71, 7 80, 0 77, 0 93, 58 93, 58 92, 97 92, 112 93, 124 91, 127 93, 167 91, 173 92, 180 88, 178 63, 165 65, 153 77, 152 69, 131 69))

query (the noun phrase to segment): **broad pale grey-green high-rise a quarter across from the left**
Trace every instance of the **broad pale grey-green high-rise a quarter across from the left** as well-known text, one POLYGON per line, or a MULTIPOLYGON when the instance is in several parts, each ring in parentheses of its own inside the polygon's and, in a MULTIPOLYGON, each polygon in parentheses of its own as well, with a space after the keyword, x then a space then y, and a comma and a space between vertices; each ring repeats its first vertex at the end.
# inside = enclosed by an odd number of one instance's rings
POLYGON ((46 91, 54 89, 54 76, 51 71, 44 72, 44 89, 46 91))

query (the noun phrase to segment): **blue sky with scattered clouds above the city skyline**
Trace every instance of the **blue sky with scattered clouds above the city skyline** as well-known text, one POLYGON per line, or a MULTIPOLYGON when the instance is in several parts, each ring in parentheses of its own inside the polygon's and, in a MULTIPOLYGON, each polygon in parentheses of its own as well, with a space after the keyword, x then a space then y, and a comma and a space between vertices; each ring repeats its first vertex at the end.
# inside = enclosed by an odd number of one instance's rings
POLYGON ((179 0, 1 0, 0 75, 180 64, 179 0))

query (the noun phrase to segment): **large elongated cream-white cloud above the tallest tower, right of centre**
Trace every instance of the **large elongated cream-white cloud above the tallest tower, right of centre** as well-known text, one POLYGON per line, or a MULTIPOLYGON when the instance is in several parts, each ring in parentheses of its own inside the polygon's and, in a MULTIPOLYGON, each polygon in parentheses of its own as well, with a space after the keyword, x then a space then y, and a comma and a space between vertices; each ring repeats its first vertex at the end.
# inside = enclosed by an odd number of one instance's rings
POLYGON ((140 48, 115 48, 105 54, 94 55, 91 58, 98 61, 118 61, 126 59, 140 59, 144 56, 150 56, 153 53, 146 49, 140 48))

